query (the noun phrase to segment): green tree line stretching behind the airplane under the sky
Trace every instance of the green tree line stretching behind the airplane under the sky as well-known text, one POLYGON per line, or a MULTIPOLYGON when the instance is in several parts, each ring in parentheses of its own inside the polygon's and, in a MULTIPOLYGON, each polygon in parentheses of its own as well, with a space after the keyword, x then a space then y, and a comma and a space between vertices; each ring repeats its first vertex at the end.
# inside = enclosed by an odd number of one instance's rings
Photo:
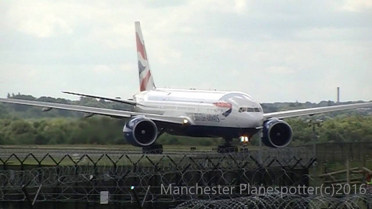
MULTIPOLYGON (((57 102, 73 105, 104 107, 119 110, 131 110, 131 106, 80 97, 79 100, 40 97, 31 95, 10 95, 9 98, 28 99, 43 102, 57 102)), ((353 102, 348 102, 353 103, 353 102)), ((264 112, 299 109, 318 106, 335 105, 331 101, 320 103, 263 103, 264 112)), ((294 131, 291 145, 301 145, 312 142, 359 142, 372 139, 372 111, 371 109, 355 109, 320 114, 317 116, 303 116, 286 119, 294 131), (324 122, 316 128, 314 135, 309 119, 323 119, 324 122)), ((114 119, 105 116, 84 118, 82 113, 52 109, 41 112, 40 107, 24 105, 0 104, 0 144, 127 144, 122 133, 125 119, 114 119)), ((258 144, 256 135, 251 142, 258 144)), ((162 144, 179 145, 218 145, 221 138, 190 138, 163 134, 158 139, 162 144)), ((234 140, 239 143, 238 140, 234 140)))

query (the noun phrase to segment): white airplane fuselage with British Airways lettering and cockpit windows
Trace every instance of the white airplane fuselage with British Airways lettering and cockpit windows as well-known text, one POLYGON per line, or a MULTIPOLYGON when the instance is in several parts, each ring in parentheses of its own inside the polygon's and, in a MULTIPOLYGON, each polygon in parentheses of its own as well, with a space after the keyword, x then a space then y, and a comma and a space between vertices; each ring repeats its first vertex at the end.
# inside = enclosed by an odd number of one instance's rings
MULTIPOLYGON (((190 126, 245 130, 263 124, 260 104, 238 91, 155 89, 141 91, 133 100, 137 103, 136 112, 184 117, 190 126)), ((239 134, 249 135, 248 132, 239 134)))

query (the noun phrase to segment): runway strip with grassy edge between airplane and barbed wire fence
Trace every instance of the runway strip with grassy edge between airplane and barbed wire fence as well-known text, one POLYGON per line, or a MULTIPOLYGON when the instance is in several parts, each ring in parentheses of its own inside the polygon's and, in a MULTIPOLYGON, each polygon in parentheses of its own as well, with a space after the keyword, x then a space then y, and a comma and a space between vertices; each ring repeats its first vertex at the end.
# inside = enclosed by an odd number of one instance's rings
MULTIPOLYGON (((266 158, 278 157, 280 159, 291 160, 293 156, 298 156, 298 158, 310 159, 312 158, 312 152, 307 148, 283 148, 283 149, 270 149, 263 147, 261 151, 257 150, 258 147, 248 146, 248 151, 231 152, 231 153, 217 153, 217 151, 212 147, 195 147, 195 150, 190 150, 187 146, 174 146, 174 145, 164 145, 162 154, 147 154, 149 160, 160 160, 160 158, 171 157, 174 159, 181 159, 183 157, 194 159, 222 159, 229 158, 233 155, 236 159, 245 159, 249 156, 255 156, 263 161, 266 158)), ((43 158, 51 160, 64 159, 68 160, 71 158, 73 161, 79 161, 81 159, 91 158, 91 161, 102 160, 107 161, 108 158, 121 159, 132 158, 140 159, 145 157, 146 154, 142 153, 142 149, 139 147, 133 147, 129 145, 119 145, 119 146, 99 146, 99 145, 33 145, 29 147, 25 146, 14 146, 14 145, 3 145, 0 147, 0 160, 14 162, 20 162, 25 160, 37 162, 43 158), (32 155, 31 155, 32 154, 32 155), (35 159, 35 158, 37 159, 35 159)), ((115 160, 114 160, 115 161, 115 160)), ((101 161, 100 161, 101 162, 101 161)), ((132 162, 132 163, 135 163, 132 162)))

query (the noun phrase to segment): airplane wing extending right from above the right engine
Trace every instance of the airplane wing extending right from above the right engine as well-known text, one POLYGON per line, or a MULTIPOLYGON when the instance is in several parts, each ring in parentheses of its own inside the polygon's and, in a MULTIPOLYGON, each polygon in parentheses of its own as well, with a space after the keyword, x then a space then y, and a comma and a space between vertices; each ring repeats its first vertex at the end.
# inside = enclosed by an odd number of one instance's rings
POLYGON ((329 106, 329 107, 315 107, 315 108, 307 108, 307 109, 298 109, 298 110, 287 110, 287 111, 280 111, 280 112, 270 112, 264 113, 264 118, 291 118, 301 115, 314 115, 319 113, 325 112, 332 112, 338 110, 347 110, 347 109, 354 109, 360 107, 372 107, 372 102, 365 102, 365 103, 357 103, 351 105, 336 105, 336 106, 329 106))

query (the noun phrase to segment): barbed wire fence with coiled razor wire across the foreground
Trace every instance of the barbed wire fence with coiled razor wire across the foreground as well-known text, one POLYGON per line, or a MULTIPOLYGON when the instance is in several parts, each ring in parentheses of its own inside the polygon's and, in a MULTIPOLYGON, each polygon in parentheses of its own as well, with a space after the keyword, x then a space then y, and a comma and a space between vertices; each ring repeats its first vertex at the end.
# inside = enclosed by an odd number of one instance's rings
MULTIPOLYGON (((0 154, 0 202, 172 203, 183 208, 368 208, 371 193, 341 197, 298 194, 175 194, 164 187, 317 184, 306 148, 237 153, 0 154), (132 187, 133 186, 133 187, 132 187), (131 188, 132 187, 132 188, 131 188), (164 190, 163 190, 164 188, 164 190), (163 193, 163 192, 165 193, 163 193), (248 196, 247 196, 248 195, 248 196)), ((169 206, 171 206, 169 205, 169 206)), ((171 206, 173 207, 173 206, 171 206)))

